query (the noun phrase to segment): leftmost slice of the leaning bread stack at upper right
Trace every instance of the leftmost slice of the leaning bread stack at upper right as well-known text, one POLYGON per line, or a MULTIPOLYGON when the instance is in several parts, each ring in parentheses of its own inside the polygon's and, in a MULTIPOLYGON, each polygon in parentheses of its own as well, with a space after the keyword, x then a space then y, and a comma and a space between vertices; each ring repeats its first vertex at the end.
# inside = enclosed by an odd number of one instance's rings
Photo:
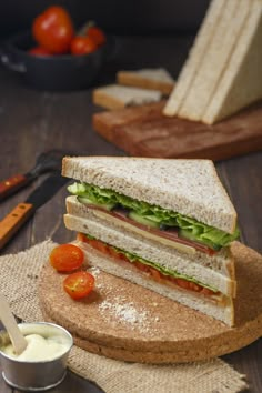
POLYGON ((195 37, 194 43, 190 49, 188 59, 179 74, 175 87, 170 94, 170 98, 163 109, 167 115, 175 115, 183 103, 184 98, 193 82, 194 75, 201 68, 204 60, 205 52, 211 44, 216 24, 219 23, 224 4, 228 0, 212 0, 201 23, 199 32, 195 37))

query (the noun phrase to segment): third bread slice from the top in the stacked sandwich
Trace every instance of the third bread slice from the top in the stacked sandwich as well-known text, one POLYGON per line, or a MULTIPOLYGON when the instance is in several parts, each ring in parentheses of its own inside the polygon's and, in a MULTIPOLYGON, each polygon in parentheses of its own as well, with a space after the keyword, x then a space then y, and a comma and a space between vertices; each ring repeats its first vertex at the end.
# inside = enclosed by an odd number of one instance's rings
POLYGON ((110 245, 134 253, 144 260, 159 263, 162 266, 175 270, 178 273, 194 278, 203 284, 205 283, 215 288, 228 296, 235 296, 235 281, 213 270, 211 258, 210 266, 205 266, 204 261, 206 259, 194 261, 188 258, 187 254, 153 243, 142 236, 130 233, 124 228, 120 230, 112 224, 103 222, 95 218, 91 211, 85 218, 66 214, 64 224, 71 231, 90 234, 110 245))

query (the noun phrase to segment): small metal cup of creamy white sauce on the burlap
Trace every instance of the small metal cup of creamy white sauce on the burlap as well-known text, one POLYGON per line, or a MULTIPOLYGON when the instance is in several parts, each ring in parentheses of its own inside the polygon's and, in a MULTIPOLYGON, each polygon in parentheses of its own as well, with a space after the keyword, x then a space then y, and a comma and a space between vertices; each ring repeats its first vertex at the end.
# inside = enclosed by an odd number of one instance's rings
POLYGON ((20 323, 28 342, 17 355, 12 344, 0 347, 2 377, 12 387, 31 392, 44 391, 60 384, 67 373, 67 360, 73 345, 71 334, 54 323, 20 323))

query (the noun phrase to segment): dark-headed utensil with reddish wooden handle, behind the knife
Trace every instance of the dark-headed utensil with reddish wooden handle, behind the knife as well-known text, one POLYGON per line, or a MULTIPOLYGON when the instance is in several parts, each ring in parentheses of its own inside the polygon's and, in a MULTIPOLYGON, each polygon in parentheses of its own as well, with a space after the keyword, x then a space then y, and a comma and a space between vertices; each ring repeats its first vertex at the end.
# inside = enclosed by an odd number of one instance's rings
POLYGON ((77 155, 69 150, 49 150, 41 153, 34 167, 27 173, 17 173, 9 179, 0 181, 0 201, 13 194, 21 188, 30 184, 40 174, 48 171, 61 171, 62 158, 64 155, 77 155))

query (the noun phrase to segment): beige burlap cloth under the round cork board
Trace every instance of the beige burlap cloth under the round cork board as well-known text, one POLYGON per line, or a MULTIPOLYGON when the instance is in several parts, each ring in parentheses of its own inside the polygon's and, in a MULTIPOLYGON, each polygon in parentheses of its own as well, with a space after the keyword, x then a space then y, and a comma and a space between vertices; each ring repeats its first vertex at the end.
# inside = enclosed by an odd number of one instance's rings
MULTIPOLYGON (((13 313, 24 322, 42 321, 37 296, 38 274, 54 243, 47 240, 30 250, 0 256, 0 290, 13 313)), ((107 393, 234 393, 248 387, 244 375, 221 359, 173 365, 114 361, 73 346, 68 366, 94 381, 107 393)))

